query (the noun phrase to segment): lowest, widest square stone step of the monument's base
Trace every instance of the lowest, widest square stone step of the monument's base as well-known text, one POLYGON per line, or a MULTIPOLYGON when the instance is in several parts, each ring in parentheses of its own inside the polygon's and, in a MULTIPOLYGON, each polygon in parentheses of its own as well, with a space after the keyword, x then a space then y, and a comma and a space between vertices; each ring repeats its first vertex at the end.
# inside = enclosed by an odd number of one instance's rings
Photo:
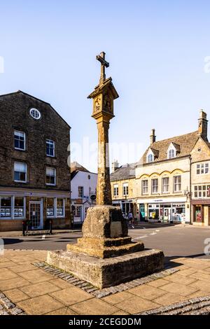
POLYGON ((48 251, 47 262, 97 288, 106 288, 160 271, 164 253, 150 249, 102 259, 73 251, 48 251))

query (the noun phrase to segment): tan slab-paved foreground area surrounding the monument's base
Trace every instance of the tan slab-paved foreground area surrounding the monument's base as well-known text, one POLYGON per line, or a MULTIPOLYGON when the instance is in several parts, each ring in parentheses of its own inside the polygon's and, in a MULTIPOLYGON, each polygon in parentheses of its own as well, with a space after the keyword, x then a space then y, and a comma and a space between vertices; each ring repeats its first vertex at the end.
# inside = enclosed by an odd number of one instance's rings
POLYGON ((165 271, 98 290, 46 265, 47 253, 0 255, 0 315, 209 314, 210 260, 173 258, 165 271))

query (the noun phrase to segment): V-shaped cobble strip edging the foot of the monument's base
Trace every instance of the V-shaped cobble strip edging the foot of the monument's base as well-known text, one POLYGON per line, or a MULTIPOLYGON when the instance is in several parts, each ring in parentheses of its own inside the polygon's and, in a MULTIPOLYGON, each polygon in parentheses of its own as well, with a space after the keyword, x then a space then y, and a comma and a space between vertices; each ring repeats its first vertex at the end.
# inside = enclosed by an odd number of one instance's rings
POLYGON ((65 281, 73 284, 73 286, 77 286, 78 288, 85 290, 87 293, 91 293, 92 295, 94 295, 94 297, 97 297, 97 298, 106 297, 106 296, 114 294, 114 293, 120 293, 127 289, 141 286, 141 284, 148 283, 148 282, 151 282, 151 281, 154 281, 157 279, 165 278, 166 276, 168 276, 170 274, 174 274, 175 272, 179 271, 179 269, 171 267, 171 268, 165 269, 161 272, 157 272, 157 273, 153 273, 148 276, 144 276, 140 279, 135 279, 135 280, 132 280, 129 282, 121 283, 117 286, 112 286, 109 288, 99 289, 99 288, 92 286, 92 284, 87 281, 76 278, 76 276, 73 276, 73 274, 64 272, 61 269, 57 269, 56 267, 48 265, 46 262, 36 262, 36 263, 34 263, 34 265, 36 267, 40 267, 41 269, 44 269, 45 272, 48 272, 49 274, 52 274, 59 279, 63 279, 65 281))

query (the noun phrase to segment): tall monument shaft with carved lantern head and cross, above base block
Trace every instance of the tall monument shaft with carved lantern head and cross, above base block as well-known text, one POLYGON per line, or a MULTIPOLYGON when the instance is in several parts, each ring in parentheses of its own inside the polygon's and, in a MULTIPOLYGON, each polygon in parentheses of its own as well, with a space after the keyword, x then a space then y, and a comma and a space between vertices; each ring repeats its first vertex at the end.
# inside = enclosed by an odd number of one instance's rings
POLYGON ((97 120, 98 129, 98 181, 97 181, 97 204, 112 204, 111 183, 109 170, 109 123, 114 117, 113 100, 118 98, 111 78, 106 79, 105 67, 109 63, 105 60, 105 52, 97 55, 101 63, 101 75, 99 85, 88 96, 93 99, 92 118, 97 120))

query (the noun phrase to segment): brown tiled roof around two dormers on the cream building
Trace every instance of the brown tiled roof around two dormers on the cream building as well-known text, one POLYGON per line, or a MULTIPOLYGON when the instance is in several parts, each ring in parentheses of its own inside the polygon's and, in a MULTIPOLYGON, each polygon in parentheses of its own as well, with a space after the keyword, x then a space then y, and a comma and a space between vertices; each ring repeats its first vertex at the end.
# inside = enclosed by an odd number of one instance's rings
POLYGON ((146 152, 137 165, 144 165, 147 163, 146 156, 150 148, 152 151, 155 150, 155 154, 158 155, 158 157, 155 156, 154 162, 167 160, 167 151, 171 143, 174 145, 176 151, 178 152, 176 158, 190 156, 190 152, 192 151, 199 137, 200 134, 196 131, 190 132, 189 134, 183 134, 181 136, 164 139, 162 141, 155 141, 153 144, 151 144, 151 146, 147 148, 146 152))

